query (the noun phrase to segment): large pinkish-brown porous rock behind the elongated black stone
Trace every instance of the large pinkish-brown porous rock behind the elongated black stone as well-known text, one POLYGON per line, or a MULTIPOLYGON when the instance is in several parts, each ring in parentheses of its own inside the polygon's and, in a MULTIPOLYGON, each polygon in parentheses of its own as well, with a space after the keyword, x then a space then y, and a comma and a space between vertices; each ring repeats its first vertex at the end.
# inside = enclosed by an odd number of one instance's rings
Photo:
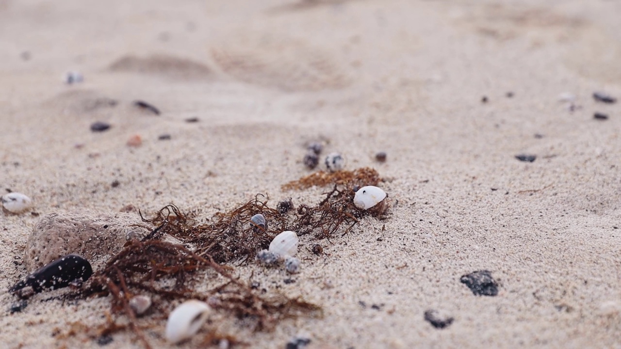
POLYGON ((61 256, 83 256, 96 271, 118 253, 129 236, 147 235, 140 216, 122 212, 44 215, 26 243, 24 263, 30 273, 61 256))

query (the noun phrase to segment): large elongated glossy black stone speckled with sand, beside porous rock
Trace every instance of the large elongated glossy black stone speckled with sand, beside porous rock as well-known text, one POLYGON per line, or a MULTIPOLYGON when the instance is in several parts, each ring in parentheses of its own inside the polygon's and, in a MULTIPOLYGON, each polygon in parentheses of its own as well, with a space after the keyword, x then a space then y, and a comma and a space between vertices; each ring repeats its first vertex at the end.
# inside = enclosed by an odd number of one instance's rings
POLYGON ((78 255, 66 255, 58 258, 38 270, 9 289, 15 293, 27 286, 32 287, 35 293, 43 289, 65 288, 76 279, 88 280, 93 274, 91 263, 78 255))

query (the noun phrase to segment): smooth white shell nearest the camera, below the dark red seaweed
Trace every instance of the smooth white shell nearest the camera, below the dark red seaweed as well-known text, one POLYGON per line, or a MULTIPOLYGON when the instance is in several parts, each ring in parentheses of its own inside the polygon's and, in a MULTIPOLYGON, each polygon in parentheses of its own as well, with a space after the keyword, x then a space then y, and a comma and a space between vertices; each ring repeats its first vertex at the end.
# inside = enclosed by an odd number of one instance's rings
POLYGON ((181 303, 168 315, 166 340, 179 343, 198 332, 207 320, 211 307, 206 302, 191 299, 181 303))

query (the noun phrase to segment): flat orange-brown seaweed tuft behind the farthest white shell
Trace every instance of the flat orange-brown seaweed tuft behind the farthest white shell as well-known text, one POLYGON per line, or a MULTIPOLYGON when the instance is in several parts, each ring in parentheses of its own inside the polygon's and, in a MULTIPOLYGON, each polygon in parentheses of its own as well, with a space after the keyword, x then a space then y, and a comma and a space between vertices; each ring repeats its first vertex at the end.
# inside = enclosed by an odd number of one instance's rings
POLYGON ((311 188, 312 186, 329 186, 333 184, 353 189, 355 186, 376 186, 379 181, 381 181, 381 178, 379 178, 378 171, 368 167, 358 168, 353 171, 319 171, 284 184, 283 190, 300 190, 311 188))

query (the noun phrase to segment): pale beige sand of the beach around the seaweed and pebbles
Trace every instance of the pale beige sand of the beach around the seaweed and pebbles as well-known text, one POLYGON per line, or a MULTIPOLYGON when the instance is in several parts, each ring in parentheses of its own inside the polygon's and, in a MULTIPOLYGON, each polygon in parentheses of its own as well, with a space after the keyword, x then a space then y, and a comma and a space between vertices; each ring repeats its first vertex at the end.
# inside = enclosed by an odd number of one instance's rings
MULTIPOLYGON (((207 219, 256 193, 315 203, 324 188, 281 184, 309 173, 304 142, 319 137, 388 179, 392 216, 323 256, 302 239, 295 283, 236 271, 325 310, 240 330, 252 348, 298 333, 314 348, 621 347, 621 107, 591 97, 621 97, 619 1, 0 0, 0 38, 0 187, 34 212, 175 203, 207 219), (69 70, 84 82, 64 84, 69 70), (96 120, 112 129, 91 132, 96 120), (475 270, 496 297, 460 283, 475 270), (435 329, 428 309, 455 321, 435 329)), ((106 298, 39 294, 7 311, 37 219, 0 212, 0 347, 97 348, 53 333, 102 324, 106 298)), ((140 347, 113 337, 105 348, 140 347)))

